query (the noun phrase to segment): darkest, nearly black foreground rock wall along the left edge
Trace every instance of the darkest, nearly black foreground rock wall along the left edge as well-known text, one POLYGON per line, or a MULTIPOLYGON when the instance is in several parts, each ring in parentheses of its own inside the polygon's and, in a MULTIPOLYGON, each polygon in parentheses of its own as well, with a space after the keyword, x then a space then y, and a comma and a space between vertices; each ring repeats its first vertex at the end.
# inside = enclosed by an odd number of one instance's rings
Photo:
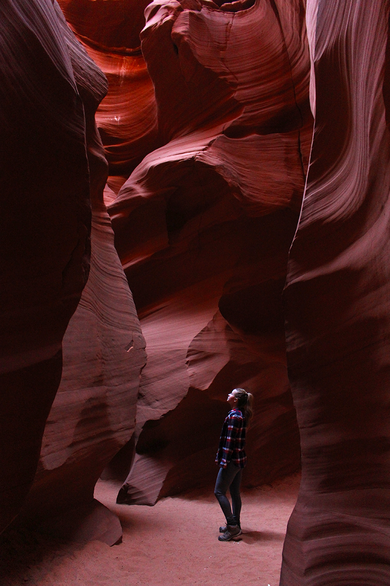
POLYGON ((51 0, 0 6, 1 517, 33 481, 61 377, 61 340, 89 271, 85 111, 106 81, 94 64, 88 104, 51 0))

